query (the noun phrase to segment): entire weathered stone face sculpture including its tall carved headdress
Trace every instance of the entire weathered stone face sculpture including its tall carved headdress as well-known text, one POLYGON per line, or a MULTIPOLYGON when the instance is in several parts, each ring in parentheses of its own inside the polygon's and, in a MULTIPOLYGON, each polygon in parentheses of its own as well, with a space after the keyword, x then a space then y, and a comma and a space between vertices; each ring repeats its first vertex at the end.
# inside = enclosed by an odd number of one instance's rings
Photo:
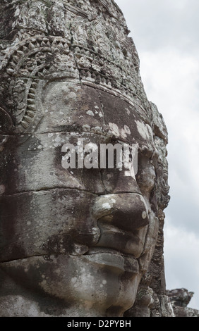
POLYGON ((167 128, 121 10, 112 0, 0 9, 1 316, 171 316, 167 128), (62 148, 78 139, 138 144, 137 175, 64 168, 62 148))

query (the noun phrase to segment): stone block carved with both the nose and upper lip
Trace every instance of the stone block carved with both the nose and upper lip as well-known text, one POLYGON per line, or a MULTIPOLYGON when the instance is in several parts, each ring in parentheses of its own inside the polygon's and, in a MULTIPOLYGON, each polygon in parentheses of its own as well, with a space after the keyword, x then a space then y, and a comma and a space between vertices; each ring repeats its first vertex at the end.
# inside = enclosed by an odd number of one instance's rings
POLYGON ((143 196, 138 193, 99 196, 93 213, 100 229, 98 249, 114 249, 138 258, 143 253, 149 223, 143 196))

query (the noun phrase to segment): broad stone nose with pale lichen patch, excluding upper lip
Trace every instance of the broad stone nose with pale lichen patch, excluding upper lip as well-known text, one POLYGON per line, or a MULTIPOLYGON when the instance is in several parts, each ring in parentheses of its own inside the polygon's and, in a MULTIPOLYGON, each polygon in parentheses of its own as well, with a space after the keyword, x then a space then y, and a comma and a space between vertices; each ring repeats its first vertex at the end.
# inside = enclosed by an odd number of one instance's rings
POLYGON ((95 219, 126 232, 135 232, 149 224, 147 206, 138 193, 99 196, 93 206, 95 219))

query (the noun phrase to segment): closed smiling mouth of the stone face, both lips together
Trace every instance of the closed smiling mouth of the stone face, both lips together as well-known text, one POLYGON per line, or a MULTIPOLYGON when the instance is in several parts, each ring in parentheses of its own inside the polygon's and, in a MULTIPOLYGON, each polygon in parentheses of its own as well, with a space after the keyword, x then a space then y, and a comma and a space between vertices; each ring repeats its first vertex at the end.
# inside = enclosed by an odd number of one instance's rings
MULTIPOLYGON (((138 258, 143 253, 144 243, 138 233, 127 232, 119 227, 98 220, 101 236, 95 246, 90 247, 84 255, 92 262, 111 268, 114 273, 139 273, 138 258)), ((137 231, 138 232, 138 231, 137 231)))

